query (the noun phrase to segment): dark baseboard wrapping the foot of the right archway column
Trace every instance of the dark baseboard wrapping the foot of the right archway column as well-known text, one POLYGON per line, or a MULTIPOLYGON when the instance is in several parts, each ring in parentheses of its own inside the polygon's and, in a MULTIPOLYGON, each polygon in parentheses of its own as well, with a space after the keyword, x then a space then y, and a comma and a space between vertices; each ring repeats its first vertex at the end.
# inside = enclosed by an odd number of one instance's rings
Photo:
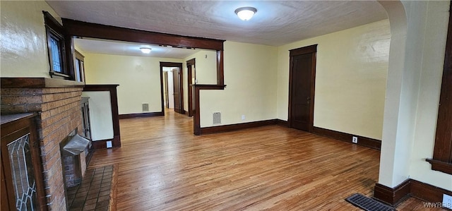
POLYGON ((389 205, 396 206, 410 197, 410 182, 411 180, 407 179, 395 188, 389 188, 380 183, 376 183, 374 188, 374 198, 389 205))

